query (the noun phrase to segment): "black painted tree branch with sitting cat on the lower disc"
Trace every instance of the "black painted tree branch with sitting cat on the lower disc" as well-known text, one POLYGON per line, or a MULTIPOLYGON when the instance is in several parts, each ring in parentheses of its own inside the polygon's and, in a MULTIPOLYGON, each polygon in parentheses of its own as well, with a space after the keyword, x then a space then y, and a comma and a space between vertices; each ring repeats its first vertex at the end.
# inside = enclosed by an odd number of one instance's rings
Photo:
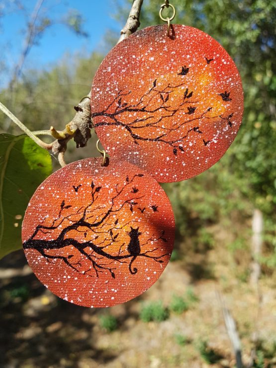
MULTIPOLYGON (((102 187, 92 182, 91 202, 87 206, 70 212, 73 206, 63 200, 57 218, 50 226, 44 225, 46 218, 42 224, 37 225, 30 238, 23 243, 23 248, 38 251, 48 262, 62 260, 76 272, 96 277, 99 277, 100 273, 109 272, 115 278, 116 263, 127 263, 130 274, 134 275, 138 269, 133 267, 133 264, 138 257, 163 263, 162 258, 169 253, 160 256, 158 252, 157 255, 156 251, 159 248, 152 249, 149 244, 160 240, 166 243, 165 230, 161 230, 158 236, 152 235, 144 244, 141 244, 142 232, 139 227, 130 226, 130 223, 133 226, 135 220, 120 221, 122 216, 126 217, 126 211, 133 212, 134 207, 138 206, 139 199, 143 198, 135 186, 136 178, 143 176, 143 174, 136 174, 132 178, 126 177, 124 184, 116 184, 114 195, 110 200, 106 200, 107 204, 99 200, 102 187), (126 232, 129 241, 124 243, 119 236, 120 232, 125 231, 122 230, 123 227, 129 230, 126 232), (146 246, 149 250, 143 251, 142 248, 146 246), (71 248, 65 251, 66 247, 71 248), (71 249, 74 249, 74 252, 70 252, 71 249)), ((73 185, 75 192, 77 188, 80 190, 80 187, 80 184, 73 185)), ((154 204, 147 210, 152 213, 157 208, 158 206, 154 204)), ((141 210, 137 207, 137 210, 143 213, 146 208, 141 210)))

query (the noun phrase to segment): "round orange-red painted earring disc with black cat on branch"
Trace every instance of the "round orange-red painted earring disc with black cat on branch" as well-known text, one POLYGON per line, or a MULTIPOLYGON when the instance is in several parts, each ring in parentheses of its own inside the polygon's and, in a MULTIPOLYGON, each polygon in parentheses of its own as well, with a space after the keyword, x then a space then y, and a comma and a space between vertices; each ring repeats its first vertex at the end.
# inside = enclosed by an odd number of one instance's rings
POLYGON ((175 220, 161 186, 130 163, 67 165, 32 196, 22 241, 35 275, 54 294, 108 307, 147 290, 169 262, 175 220))

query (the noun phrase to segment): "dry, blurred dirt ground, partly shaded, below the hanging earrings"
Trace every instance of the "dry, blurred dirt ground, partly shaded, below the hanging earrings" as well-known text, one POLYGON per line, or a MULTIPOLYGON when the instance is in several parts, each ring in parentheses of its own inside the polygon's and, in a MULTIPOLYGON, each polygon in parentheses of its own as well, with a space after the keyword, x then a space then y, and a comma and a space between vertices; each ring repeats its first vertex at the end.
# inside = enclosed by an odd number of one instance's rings
MULTIPOLYGON (((238 258, 243 265, 250 261, 246 254, 238 258)), ((99 321, 107 310, 59 299, 32 274, 23 252, 13 253, 0 262, 0 367, 235 367, 219 295, 236 321, 247 365, 254 339, 263 349, 276 341, 276 280, 262 276, 257 290, 243 267, 223 246, 184 255, 143 295, 108 308, 118 319, 118 329, 108 333, 99 321), (169 306, 173 295, 184 295, 189 286, 199 300, 187 311, 171 312, 162 322, 139 318, 143 303, 162 300, 169 306), (177 335, 185 337, 183 343, 177 335), (216 363, 204 361, 197 341, 207 342, 216 363)), ((276 367, 276 359, 264 356, 255 367, 276 367)))

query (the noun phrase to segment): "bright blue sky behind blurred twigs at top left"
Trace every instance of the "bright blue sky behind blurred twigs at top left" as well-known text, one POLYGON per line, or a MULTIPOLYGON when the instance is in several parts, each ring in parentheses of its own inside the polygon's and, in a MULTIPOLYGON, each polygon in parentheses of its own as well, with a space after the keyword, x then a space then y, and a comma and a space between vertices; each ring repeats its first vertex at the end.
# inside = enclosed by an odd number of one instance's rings
MULTIPOLYGON (((3 50, 2 59, 8 67, 6 74, 12 70, 22 53, 26 15, 31 14, 36 1, 22 1, 26 11, 14 11, 14 9, 7 11, 9 10, 7 8, 6 14, 0 18, 0 48, 3 50)), ((85 54, 93 49, 100 50, 107 29, 113 30, 119 37, 121 25, 112 18, 112 13, 117 12, 115 0, 44 0, 43 7, 50 9, 51 17, 57 20, 61 19, 62 14, 65 14, 68 9, 77 9, 85 19, 83 28, 89 33, 89 37, 77 36, 66 26, 56 24, 44 32, 37 46, 32 47, 24 68, 49 68, 66 52, 74 53, 80 50, 85 54)), ((43 12, 44 9, 42 8, 41 11, 43 12)), ((6 78, 2 74, 0 86, 5 84, 6 78)))

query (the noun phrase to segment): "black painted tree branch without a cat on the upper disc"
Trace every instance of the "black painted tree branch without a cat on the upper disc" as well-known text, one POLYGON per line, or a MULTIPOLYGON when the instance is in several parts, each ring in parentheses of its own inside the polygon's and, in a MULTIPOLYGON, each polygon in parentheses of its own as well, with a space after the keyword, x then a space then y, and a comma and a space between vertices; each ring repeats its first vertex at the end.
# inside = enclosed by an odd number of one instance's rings
MULTIPOLYGON (((230 127, 230 118, 233 114, 224 116, 223 114, 210 115, 212 106, 206 106, 202 111, 201 101, 193 98, 194 92, 190 91, 183 81, 189 72, 189 68, 182 67, 180 73, 181 83, 168 84, 164 88, 159 88, 157 79, 152 86, 135 103, 132 91, 119 90, 117 95, 102 111, 92 112, 95 119, 94 127, 118 126, 123 127, 133 138, 135 144, 139 141, 162 142, 172 147, 173 153, 177 155, 178 150, 184 152, 183 140, 192 132, 201 135, 202 144, 206 146, 210 140, 204 140, 204 132, 199 130, 202 119, 208 119, 208 123, 225 121, 230 127), (179 96, 175 98, 176 92, 179 96), (173 97, 172 97, 173 95, 173 97), (168 118, 170 121, 168 121, 168 118), (148 134, 147 128, 151 128, 148 134), (207 142, 207 144, 206 144, 207 142)), ((218 93, 222 101, 231 101, 230 92, 218 93)))

